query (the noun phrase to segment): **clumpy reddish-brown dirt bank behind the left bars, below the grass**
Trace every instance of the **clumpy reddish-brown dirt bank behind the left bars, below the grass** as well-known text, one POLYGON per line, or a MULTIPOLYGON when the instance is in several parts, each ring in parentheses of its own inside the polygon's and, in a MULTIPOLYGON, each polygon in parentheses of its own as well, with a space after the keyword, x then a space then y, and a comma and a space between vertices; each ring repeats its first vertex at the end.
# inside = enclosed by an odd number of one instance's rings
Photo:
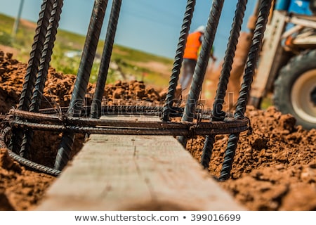
MULTIPOLYGON (((12 53, 0 50, 0 113, 7 113, 11 107, 16 107, 22 91, 22 82, 27 71, 27 65, 12 58, 12 53)), ((41 108, 55 108, 67 106, 70 103, 76 76, 63 75, 49 68, 44 88, 41 108)), ((88 84, 86 103, 90 104, 96 86, 88 84)), ((158 91, 148 88, 144 82, 131 81, 109 84, 105 87, 104 103, 118 105, 133 101, 148 101, 160 103, 162 101, 158 91)))

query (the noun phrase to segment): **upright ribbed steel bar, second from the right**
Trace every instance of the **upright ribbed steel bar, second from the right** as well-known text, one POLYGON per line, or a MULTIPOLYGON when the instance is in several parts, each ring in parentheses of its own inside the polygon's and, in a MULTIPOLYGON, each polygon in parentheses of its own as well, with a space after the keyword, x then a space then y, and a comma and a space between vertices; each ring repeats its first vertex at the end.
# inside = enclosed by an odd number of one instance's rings
MULTIPOLYGON (((223 69, 220 72, 220 79, 216 91, 215 101, 213 103, 211 120, 223 120, 226 113, 223 111, 224 98, 227 91, 228 81, 230 78, 230 71, 232 70, 232 62, 235 57, 235 51, 238 43, 239 33, 242 28, 242 21, 244 19, 244 11, 246 11, 247 0, 239 0, 237 3, 235 17, 232 23, 232 30, 230 30, 230 38, 225 53, 223 69)), ((209 167, 211 154, 213 150, 213 143, 215 136, 206 136, 204 141, 201 164, 204 168, 209 167)))

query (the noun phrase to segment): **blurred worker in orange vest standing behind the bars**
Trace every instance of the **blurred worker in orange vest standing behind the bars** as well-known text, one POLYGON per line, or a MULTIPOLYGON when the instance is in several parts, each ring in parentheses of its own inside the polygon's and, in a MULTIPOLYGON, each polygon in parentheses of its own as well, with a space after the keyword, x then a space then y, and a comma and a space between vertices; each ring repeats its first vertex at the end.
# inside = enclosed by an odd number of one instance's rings
MULTIPOLYGON (((187 43, 185 44, 185 52, 183 55, 183 72, 180 77, 182 90, 189 87, 193 73, 195 72, 195 65, 197 65, 197 57, 204 38, 204 32, 205 27, 199 26, 197 27, 197 30, 187 36, 187 43)), ((211 58, 216 61, 216 57, 213 56, 213 48, 211 51, 211 58)))

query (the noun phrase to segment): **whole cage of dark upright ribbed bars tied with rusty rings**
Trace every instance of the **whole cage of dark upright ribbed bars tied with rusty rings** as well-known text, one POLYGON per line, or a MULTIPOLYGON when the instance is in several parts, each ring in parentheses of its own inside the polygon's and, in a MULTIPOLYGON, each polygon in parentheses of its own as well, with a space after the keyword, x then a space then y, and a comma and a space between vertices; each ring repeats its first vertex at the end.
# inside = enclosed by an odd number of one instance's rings
POLYGON ((49 63, 53 53, 55 36, 58 32, 58 22, 60 20, 63 1, 43 0, 18 108, 10 110, 8 112, 9 117, 7 117, 7 120, 4 120, 2 124, 0 147, 6 148, 11 157, 23 165, 58 176, 65 165, 67 165, 76 133, 172 135, 178 136, 178 141, 180 141, 183 146, 186 146, 187 139, 194 134, 206 137, 201 164, 204 168, 208 168, 216 134, 229 134, 228 145, 225 150, 224 161, 218 180, 223 181, 229 179, 239 134, 251 128, 249 126, 249 119, 244 116, 244 113, 246 111, 256 61, 258 60, 258 53, 261 49, 265 25, 268 21, 272 1, 261 0, 259 4, 259 13, 254 29, 254 36, 244 69, 243 81, 240 87, 235 113, 233 114, 223 111, 223 103, 228 88, 228 81, 244 12, 246 10, 246 0, 236 1, 237 8, 232 21, 223 69, 220 73, 218 89, 216 91, 215 100, 213 101, 212 110, 210 112, 202 112, 197 108, 197 103, 201 94, 204 75, 206 73, 206 67, 224 0, 213 0, 209 19, 206 24, 204 40, 202 41, 202 48, 199 53, 185 106, 180 108, 174 103, 176 86, 183 62, 185 43, 195 9, 195 1, 196 0, 187 0, 183 25, 178 39, 178 48, 171 71, 168 94, 164 105, 162 107, 145 107, 139 105, 113 106, 101 104, 122 4, 121 0, 113 0, 103 56, 98 72, 96 91, 93 95, 92 104, 84 106, 84 96, 87 92, 88 80, 91 75, 93 60, 96 56, 100 31, 108 2, 108 0, 95 0, 70 105, 67 108, 62 108, 62 116, 60 116, 56 115, 54 110, 40 109, 40 106, 46 77, 48 75, 49 63), (100 118, 102 115, 113 114, 118 111, 120 114, 136 116, 138 115, 136 112, 141 112, 143 115, 159 115, 161 121, 126 122, 100 118), (171 117, 180 117, 180 122, 171 122, 171 117), (194 122, 196 117, 204 117, 207 121, 194 122), (27 160, 34 130, 62 132, 60 148, 55 158, 54 168, 45 167, 27 160))

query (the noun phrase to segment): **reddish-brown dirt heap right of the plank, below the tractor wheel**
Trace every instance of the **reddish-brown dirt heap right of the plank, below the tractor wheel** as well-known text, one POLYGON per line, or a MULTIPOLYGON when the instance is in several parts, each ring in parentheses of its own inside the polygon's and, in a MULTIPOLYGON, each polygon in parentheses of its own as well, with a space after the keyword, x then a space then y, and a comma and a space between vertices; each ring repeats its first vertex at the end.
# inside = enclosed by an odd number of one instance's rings
MULTIPOLYGON (((316 209, 316 130, 295 126, 295 118, 274 107, 246 115, 253 134, 241 134, 232 166, 232 179, 221 182, 249 210, 316 209)), ((219 176, 228 136, 216 136, 209 171, 219 176)), ((187 149, 199 160, 203 137, 187 149)))

